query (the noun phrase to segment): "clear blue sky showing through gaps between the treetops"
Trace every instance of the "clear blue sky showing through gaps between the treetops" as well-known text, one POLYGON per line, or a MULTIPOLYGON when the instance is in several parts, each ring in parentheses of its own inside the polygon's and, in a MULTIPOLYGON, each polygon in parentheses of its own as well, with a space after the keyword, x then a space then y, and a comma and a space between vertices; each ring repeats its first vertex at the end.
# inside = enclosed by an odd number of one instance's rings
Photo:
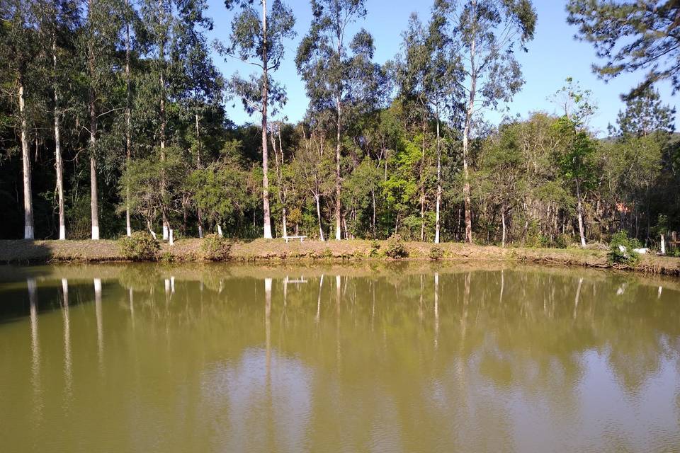
MULTIPOLYGON (((228 42, 233 13, 227 11, 223 0, 208 0, 209 14, 215 21, 215 29, 210 33, 210 40, 217 38, 228 42)), ((259 3, 259 2, 256 2, 259 3)), ((295 52, 302 36, 307 33, 312 18, 308 0, 288 0, 288 5, 295 14, 297 37, 285 43, 286 55, 280 69, 274 74, 275 79, 285 85, 288 92, 288 104, 283 108, 282 115, 295 122, 302 119, 307 109, 305 86, 295 69, 295 52)), ((579 81, 582 88, 593 92, 593 97, 599 107, 591 120, 591 127, 598 135, 605 135, 608 123, 616 122, 618 110, 623 108, 620 95, 638 84, 642 74, 623 74, 617 79, 605 83, 598 79, 591 71, 591 64, 595 62, 595 52, 588 42, 574 39, 576 28, 567 24, 564 0, 534 0, 534 7, 538 14, 536 35, 528 43, 528 53, 518 54, 526 84, 514 100, 508 105, 506 112, 486 113, 485 118, 497 123, 503 115, 526 117, 528 113, 542 110, 555 112, 555 105, 550 96, 565 83, 567 76, 579 81)), ((422 21, 430 16, 432 1, 402 1, 402 0, 366 0, 368 15, 363 21, 355 25, 355 30, 363 27, 372 35, 375 42, 375 61, 384 63, 392 59, 399 52, 402 37, 406 29, 409 15, 415 11, 422 21)), ((242 76, 254 71, 254 67, 235 59, 225 61, 214 55, 215 64, 226 77, 238 71, 242 76)), ((678 96, 671 95, 669 84, 659 84, 659 91, 665 103, 675 106, 678 96)), ((249 117, 243 110, 239 100, 227 103, 227 115, 237 124, 244 122, 258 122, 256 117, 249 117)), ((676 120, 677 123, 677 120, 676 120)), ((680 130, 680 127, 678 127, 680 130)))

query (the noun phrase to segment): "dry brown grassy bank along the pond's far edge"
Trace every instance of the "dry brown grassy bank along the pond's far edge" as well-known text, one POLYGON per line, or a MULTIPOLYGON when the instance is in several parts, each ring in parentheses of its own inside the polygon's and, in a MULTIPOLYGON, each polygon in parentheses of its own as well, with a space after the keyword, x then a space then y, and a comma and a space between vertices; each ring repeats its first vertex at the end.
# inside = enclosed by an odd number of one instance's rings
MULTIPOLYGON (((162 244, 160 256, 164 260, 201 260, 200 239, 183 239, 174 246, 162 244)), ((234 260, 385 260, 386 242, 378 241, 305 241, 285 243, 282 239, 235 241, 231 256, 234 260)), ((409 253, 407 260, 430 260, 431 243, 404 243, 409 253)), ((474 246, 464 243, 441 243, 443 260, 509 260, 519 263, 578 265, 589 268, 617 268, 680 276, 680 258, 642 256, 640 263, 630 269, 611 265, 607 253, 596 249, 559 248, 500 248, 474 246)), ((51 263, 120 261, 123 257, 115 241, 0 241, 1 263, 51 263)))

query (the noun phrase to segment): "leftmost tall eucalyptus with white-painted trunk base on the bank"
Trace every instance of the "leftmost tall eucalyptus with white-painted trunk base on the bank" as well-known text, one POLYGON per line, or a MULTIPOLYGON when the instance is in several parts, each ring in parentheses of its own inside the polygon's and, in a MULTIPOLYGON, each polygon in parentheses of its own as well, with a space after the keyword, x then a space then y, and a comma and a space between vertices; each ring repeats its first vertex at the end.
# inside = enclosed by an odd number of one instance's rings
MULTIPOLYGON (((3 85, 11 98, 11 105, 18 105, 18 112, 12 122, 20 135, 21 162, 23 173, 23 218, 24 239, 34 239, 33 185, 31 183, 30 153, 28 150, 29 120, 26 100, 30 99, 30 79, 33 55, 36 52, 35 1, 6 0, 0 11, 0 52, 6 77, 3 85)), ((33 84, 35 86, 35 84, 33 84)))

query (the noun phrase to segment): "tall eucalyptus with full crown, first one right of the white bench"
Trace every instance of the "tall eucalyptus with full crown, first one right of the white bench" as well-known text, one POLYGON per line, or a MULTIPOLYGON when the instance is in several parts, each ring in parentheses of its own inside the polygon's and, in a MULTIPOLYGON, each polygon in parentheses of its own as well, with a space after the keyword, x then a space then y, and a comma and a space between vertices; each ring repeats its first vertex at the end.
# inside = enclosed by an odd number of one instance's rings
POLYGON ((310 113, 332 111, 335 143, 335 239, 341 239, 341 154, 350 108, 375 101, 378 67, 373 37, 363 28, 348 39, 348 25, 366 16, 364 0, 311 0, 312 24, 295 64, 305 81, 310 113))

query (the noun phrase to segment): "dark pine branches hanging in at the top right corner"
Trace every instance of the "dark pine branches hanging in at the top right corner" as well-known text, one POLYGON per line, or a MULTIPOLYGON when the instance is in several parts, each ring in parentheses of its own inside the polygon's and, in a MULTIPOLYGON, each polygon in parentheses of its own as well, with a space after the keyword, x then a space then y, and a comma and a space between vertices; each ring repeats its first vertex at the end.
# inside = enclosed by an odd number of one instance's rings
POLYGON ((629 96, 638 96, 657 81, 680 88, 680 2, 674 0, 570 0, 567 21, 577 38, 591 42, 604 64, 593 70, 605 80, 647 71, 629 96))

